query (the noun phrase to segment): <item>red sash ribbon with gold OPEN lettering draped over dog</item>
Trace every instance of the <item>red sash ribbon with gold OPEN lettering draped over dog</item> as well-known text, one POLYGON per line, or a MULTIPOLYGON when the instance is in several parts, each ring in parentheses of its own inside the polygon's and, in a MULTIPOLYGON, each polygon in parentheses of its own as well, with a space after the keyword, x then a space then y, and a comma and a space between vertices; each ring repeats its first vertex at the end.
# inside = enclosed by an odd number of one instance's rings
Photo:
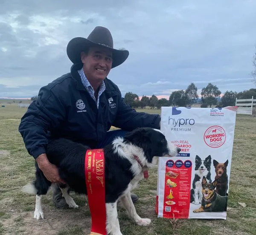
POLYGON ((105 159, 103 149, 87 150, 84 162, 91 235, 107 235, 105 205, 105 159))

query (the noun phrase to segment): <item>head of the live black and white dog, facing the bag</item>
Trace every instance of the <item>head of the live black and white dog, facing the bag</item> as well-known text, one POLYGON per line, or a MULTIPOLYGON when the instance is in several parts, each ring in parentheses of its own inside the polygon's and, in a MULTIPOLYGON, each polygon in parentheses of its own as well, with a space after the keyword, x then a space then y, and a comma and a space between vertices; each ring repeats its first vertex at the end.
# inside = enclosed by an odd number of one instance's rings
POLYGON ((153 157, 176 156, 180 148, 166 140, 164 134, 150 127, 137 128, 124 137, 125 142, 143 150, 146 160, 152 163, 153 157))

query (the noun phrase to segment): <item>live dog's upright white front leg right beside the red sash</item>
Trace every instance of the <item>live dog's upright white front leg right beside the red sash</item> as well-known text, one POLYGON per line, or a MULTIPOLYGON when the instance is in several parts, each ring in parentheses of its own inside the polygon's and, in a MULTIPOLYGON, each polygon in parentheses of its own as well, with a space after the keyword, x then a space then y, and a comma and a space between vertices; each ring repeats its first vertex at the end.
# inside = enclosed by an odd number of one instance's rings
POLYGON ((106 214, 107 214, 106 230, 107 230, 107 233, 111 235, 122 235, 122 232, 120 231, 116 204, 117 202, 106 203, 106 214))

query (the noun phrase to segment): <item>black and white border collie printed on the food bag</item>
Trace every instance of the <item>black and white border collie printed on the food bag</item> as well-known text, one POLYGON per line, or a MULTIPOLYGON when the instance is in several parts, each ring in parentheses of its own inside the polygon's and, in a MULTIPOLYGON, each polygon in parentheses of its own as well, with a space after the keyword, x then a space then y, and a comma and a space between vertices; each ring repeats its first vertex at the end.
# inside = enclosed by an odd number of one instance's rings
POLYGON ((207 179, 207 183, 212 183, 211 180, 211 164, 212 157, 209 155, 206 159, 202 160, 198 155, 195 156, 195 178, 192 183, 190 192, 190 202, 198 205, 201 203, 202 194, 202 180, 203 177, 207 179))

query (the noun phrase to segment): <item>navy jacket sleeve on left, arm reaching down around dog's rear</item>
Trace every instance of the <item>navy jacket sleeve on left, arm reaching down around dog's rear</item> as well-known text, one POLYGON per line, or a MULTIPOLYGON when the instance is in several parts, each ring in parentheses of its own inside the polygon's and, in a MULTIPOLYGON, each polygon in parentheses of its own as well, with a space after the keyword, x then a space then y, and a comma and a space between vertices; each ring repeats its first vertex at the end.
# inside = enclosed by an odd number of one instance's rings
POLYGON ((30 104, 19 125, 19 132, 31 156, 36 159, 46 153, 47 131, 59 127, 64 118, 65 107, 56 93, 47 87, 41 88, 38 99, 30 104))

